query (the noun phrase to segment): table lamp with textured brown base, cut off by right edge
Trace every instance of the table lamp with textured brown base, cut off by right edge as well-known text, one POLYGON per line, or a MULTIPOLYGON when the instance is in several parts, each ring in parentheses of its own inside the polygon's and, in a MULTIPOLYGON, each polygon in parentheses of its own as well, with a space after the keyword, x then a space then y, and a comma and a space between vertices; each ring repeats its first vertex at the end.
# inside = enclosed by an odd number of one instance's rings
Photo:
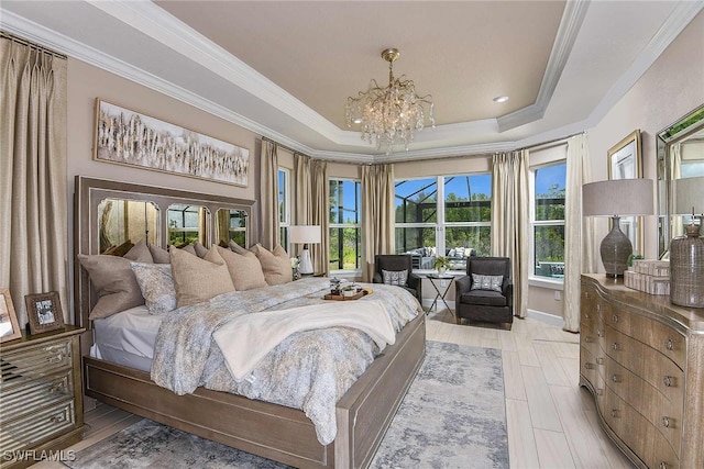
POLYGON ((704 214, 704 177, 672 181, 673 215, 692 215, 686 235, 670 242, 670 302, 704 308, 704 238, 700 224, 704 214), (700 216, 700 224, 695 217, 700 216))

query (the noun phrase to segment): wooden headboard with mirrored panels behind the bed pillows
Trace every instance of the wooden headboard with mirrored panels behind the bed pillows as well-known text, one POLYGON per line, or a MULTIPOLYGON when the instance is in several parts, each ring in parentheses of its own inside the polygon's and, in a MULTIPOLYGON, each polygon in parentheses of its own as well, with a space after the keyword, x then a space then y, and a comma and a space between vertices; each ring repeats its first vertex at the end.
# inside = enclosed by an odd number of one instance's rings
MULTIPOLYGON (((245 245, 252 244, 252 239, 256 236, 255 226, 252 226, 253 223, 250 222, 253 220, 251 215, 255 205, 252 200, 76 176, 74 192, 74 304, 77 324, 88 328, 90 327, 88 315, 96 304, 97 294, 90 284, 88 272, 78 261, 78 255, 101 254, 101 237, 105 238, 101 232, 101 223, 105 223, 105 216, 102 222, 101 216, 105 214, 105 210, 99 211, 99 206, 105 206, 106 200, 148 202, 157 215, 152 215, 147 219, 146 209, 143 209, 144 221, 142 226, 143 230, 147 230, 147 243, 160 247, 167 247, 169 241, 168 209, 173 205, 197 206, 199 210, 210 214, 202 217, 200 233, 200 239, 206 247, 220 241, 222 226, 218 226, 218 216, 216 214, 222 213, 219 212, 221 209, 226 212, 237 211, 246 220, 245 226, 240 228, 240 234, 244 237, 245 245), (101 205, 101 202, 103 205, 101 205), (148 233, 150 225, 155 228, 152 230, 151 234, 148 233)), ((146 204, 143 203, 143 205, 145 206, 146 204)), ((129 224, 127 213, 121 214, 121 216, 125 219, 124 223, 129 224)), ((170 223, 173 223, 173 220, 170 223)), ((105 231, 105 227, 102 231, 105 231)), ((136 239, 133 241, 136 242, 136 239)))

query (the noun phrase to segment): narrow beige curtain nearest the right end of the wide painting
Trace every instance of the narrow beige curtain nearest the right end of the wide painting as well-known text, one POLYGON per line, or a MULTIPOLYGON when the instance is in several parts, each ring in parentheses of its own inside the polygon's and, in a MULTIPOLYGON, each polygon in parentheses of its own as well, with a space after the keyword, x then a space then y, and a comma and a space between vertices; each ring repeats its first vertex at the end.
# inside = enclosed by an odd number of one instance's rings
POLYGON ((276 144, 262 139, 262 183, 260 186, 260 238, 273 249, 280 244, 278 230, 278 154, 276 144))

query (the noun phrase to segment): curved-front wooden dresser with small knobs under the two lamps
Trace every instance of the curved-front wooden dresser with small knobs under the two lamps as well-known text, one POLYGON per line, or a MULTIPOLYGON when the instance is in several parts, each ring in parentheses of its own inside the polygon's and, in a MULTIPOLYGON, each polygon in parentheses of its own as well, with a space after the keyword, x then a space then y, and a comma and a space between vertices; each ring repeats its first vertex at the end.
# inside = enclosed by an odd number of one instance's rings
POLYGON ((580 384, 638 466, 704 468, 704 310, 582 276, 580 384))

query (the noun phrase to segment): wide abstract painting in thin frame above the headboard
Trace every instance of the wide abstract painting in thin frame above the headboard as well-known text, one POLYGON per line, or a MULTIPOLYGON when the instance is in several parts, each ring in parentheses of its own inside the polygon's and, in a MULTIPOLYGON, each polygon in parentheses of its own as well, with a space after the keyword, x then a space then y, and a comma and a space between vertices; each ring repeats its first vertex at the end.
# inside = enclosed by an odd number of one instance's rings
POLYGON ((250 150, 96 99, 94 159, 246 187, 250 150))

